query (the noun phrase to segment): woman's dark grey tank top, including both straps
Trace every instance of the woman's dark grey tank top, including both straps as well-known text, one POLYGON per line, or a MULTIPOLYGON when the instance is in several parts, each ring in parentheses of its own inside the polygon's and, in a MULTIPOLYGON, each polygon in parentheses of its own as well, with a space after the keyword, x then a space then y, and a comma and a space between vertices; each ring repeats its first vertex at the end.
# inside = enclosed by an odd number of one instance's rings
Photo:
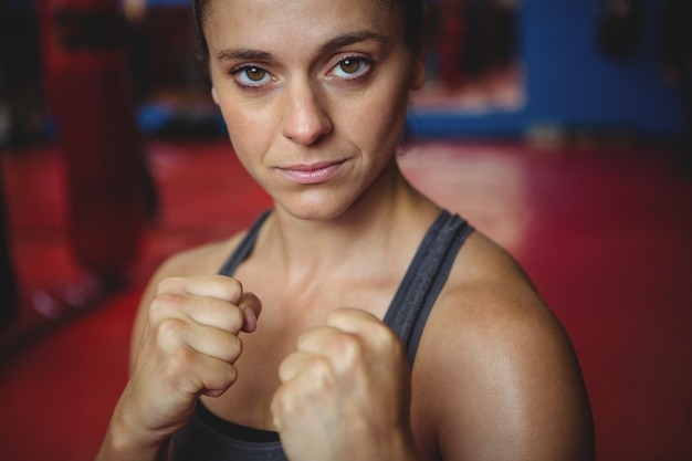
MULTIPOLYGON (((262 224, 264 212, 223 264, 219 273, 232 275, 248 258, 262 224)), ((459 249, 473 231, 466 221, 442 210, 423 238, 395 294, 384 322, 401 337, 409 364, 413 365, 418 343, 438 294, 442 290, 459 249)), ((226 421, 200 401, 188 423, 170 447, 172 461, 286 461, 279 434, 226 421)))

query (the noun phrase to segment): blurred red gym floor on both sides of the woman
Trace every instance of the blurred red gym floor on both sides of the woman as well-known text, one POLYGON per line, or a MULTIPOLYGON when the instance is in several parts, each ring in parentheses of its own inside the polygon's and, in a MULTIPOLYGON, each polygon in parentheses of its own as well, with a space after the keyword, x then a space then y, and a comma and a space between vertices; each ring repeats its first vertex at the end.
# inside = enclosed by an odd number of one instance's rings
MULTIPOLYGON (((22 306, 0 331, 0 460, 91 460, 126 381, 143 285, 167 255, 270 205, 224 140, 151 140, 160 217, 128 284, 71 259, 60 153, 3 158, 22 306)), ((570 334, 604 461, 692 459, 692 178, 664 147, 428 140, 411 181, 506 247, 570 334)))

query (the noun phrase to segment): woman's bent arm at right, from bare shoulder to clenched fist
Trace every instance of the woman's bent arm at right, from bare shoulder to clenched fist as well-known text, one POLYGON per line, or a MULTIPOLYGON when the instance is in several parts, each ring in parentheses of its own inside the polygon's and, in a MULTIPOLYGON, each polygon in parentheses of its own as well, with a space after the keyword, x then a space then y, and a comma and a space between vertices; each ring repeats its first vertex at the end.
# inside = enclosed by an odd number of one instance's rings
POLYGON ((504 252, 472 237, 462 253, 412 371, 396 335, 361 311, 301 336, 272 401, 290 459, 594 459, 562 326, 504 252))

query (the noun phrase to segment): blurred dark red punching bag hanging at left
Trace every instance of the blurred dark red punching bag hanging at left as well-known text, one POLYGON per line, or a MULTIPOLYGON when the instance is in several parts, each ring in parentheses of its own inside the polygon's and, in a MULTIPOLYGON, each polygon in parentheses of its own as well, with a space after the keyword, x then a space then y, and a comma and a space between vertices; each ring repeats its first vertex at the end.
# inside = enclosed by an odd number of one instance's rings
POLYGON ((65 165, 76 261, 119 276, 144 229, 143 148, 115 0, 40 0, 46 101, 65 165))

